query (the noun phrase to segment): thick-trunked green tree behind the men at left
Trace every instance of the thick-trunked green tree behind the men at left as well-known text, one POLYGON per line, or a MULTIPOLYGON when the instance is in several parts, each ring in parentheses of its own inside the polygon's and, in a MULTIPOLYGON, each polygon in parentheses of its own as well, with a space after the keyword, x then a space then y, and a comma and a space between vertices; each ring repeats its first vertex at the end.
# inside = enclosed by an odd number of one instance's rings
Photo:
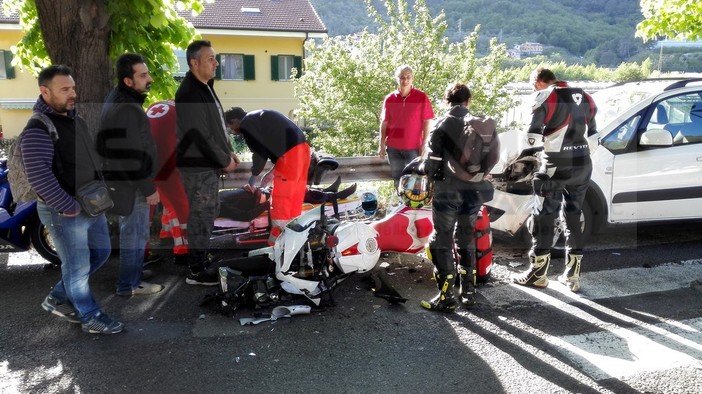
MULTIPOLYGON (((177 87, 174 48, 196 35, 177 11, 199 13, 203 0, 5 0, 19 13, 25 32, 13 48, 21 67, 38 73, 49 64, 73 68, 81 111, 95 122, 98 103, 114 83, 113 61, 137 52, 147 59, 155 83, 151 99, 170 98, 177 87), (96 104, 96 105, 91 105, 96 104)), ((92 123, 95 124, 95 123, 92 123)))

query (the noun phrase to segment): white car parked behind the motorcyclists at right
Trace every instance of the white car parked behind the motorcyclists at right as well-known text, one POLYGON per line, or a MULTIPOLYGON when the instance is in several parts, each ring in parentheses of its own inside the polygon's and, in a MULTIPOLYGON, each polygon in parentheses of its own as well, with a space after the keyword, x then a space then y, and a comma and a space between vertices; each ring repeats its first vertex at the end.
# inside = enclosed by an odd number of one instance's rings
MULTIPOLYGON (((702 78, 621 84, 593 98, 599 130, 588 141, 593 173, 583 231, 702 219, 702 78), (632 99, 638 102, 628 106, 632 99)), ((523 231, 536 204, 531 176, 539 147, 525 136, 500 134, 502 163, 492 171, 495 198, 486 204, 491 227, 512 235, 523 231)), ((561 228, 559 221, 557 238, 561 228)))

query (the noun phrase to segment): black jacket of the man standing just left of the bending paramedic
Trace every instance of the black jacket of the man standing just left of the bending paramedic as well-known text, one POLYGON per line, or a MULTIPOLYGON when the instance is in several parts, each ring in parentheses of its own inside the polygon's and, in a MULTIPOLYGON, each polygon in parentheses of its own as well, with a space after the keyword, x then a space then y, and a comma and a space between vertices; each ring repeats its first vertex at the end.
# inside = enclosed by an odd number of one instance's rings
POLYGON ((176 165, 182 171, 222 169, 231 162, 232 148, 213 85, 214 81, 204 84, 188 71, 176 92, 176 165))

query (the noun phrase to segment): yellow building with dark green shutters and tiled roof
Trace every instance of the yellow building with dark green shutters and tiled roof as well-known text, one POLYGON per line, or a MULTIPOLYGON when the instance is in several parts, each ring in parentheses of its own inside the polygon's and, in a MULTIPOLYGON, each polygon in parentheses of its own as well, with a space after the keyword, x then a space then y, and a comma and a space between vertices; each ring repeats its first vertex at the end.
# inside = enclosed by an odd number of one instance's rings
MULTIPOLYGON (((2 1, 0 1, 2 3, 2 1)), ((183 13, 218 53, 215 81, 225 109, 274 109, 295 118, 298 107, 291 72, 300 70, 304 44, 327 29, 309 0, 217 0, 197 17, 183 13)), ((0 130, 14 137, 22 130, 38 97, 36 78, 12 67, 10 47, 22 37, 17 16, 0 12, 0 130)), ((185 51, 177 51, 181 75, 185 51)))

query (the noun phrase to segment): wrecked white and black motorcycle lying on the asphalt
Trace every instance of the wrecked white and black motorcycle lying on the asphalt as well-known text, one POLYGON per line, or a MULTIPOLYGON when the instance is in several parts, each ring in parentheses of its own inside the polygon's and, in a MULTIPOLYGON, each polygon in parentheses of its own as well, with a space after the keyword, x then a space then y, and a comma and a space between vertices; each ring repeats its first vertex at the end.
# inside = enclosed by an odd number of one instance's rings
MULTIPOLYGON (((335 200, 328 192, 325 200, 335 200)), ((266 308, 294 296, 315 306, 334 304, 332 290, 348 276, 373 269, 378 233, 357 221, 325 214, 326 201, 283 229, 275 244, 219 262, 220 289, 203 304, 231 314, 241 306, 266 308)))

